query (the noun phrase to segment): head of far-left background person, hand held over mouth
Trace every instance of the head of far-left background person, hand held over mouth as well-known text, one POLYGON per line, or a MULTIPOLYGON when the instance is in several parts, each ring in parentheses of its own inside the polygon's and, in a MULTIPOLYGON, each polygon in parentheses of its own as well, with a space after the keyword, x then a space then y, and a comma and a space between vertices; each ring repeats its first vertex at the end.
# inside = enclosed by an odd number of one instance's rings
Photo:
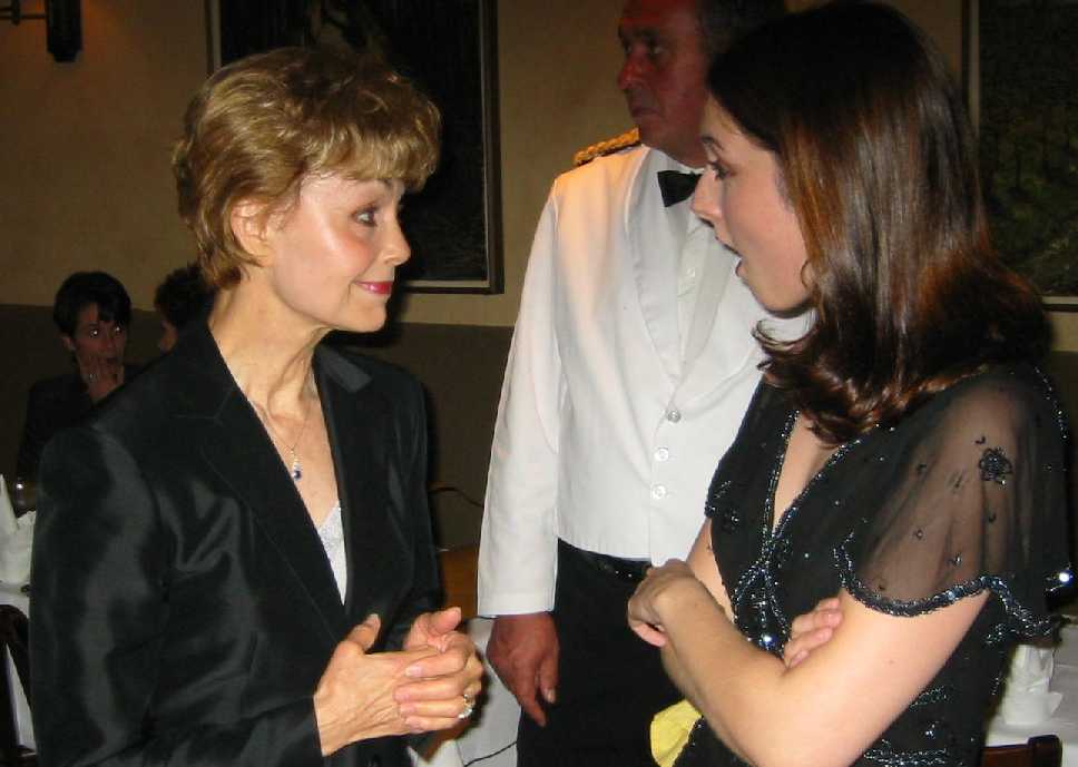
POLYGON ((95 401, 124 381, 131 299, 105 272, 76 272, 60 285, 52 321, 95 401))

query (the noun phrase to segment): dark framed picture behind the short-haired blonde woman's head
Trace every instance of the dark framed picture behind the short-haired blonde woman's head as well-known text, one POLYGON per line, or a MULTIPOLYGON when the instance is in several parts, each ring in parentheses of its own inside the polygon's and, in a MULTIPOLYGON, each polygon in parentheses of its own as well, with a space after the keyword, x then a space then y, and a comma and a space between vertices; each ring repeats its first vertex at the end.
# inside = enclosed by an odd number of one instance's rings
POLYGON ((442 159, 409 195, 416 293, 501 293, 496 0, 206 0, 209 67, 280 46, 375 52, 442 112, 442 159))

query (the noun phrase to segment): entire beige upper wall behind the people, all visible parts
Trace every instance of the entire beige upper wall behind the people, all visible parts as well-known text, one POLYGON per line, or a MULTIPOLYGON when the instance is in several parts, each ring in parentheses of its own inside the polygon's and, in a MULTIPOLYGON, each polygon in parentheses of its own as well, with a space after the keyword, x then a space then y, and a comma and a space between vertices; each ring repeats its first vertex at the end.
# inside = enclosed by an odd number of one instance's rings
MULTIPOLYGON (((802 2, 803 0, 796 0, 802 2)), ((891 0, 958 69, 959 0, 891 0)), ((27 12, 42 0, 27 0, 27 12)), ((499 69, 506 293, 412 295, 400 318, 511 325, 531 234, 572 153, 630 127, 614 86, 621 0, 501 0, 499 69)), ((138 306, 190 255, 168 147, 206 72, 198 0, 86 0, 82 52, 58 65, 45 26, 0 22, 0 303, 51 303, 77 268, 115 273, 138 306)), ((1057 314, 1078 350, 1078 314, 1057 314)))

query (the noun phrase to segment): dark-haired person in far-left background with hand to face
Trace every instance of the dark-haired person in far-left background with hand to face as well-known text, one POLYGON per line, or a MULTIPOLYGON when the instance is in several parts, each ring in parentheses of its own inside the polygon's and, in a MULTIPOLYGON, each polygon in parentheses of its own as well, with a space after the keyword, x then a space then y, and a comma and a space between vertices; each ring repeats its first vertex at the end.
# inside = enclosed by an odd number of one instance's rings
POLYGON ((105 272, 76 272, 60 285, 52 304, 60 341, 71 352, 75 371, 30 387, 19 446, 17 475, 33 482, 46 443, 76 424, 134 373, 124 364, 131 299, 105 272))

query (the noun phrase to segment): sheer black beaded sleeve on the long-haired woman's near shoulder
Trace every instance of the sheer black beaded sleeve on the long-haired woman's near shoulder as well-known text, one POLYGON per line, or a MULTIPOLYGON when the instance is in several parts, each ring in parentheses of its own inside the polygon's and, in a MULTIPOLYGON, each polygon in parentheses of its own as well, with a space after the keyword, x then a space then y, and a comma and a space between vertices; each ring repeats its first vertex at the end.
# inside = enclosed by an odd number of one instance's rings
POLYGON ((1069 581, 1065 434, 1047 384, 980 375, 901 427, 910 439, 886 459, 886 486, 861 499, 878 511, 836 551, 843 586, 903 616, 990 589, 1004 608, 1000 628, 1047 631, 1046 590, 1069 581))

